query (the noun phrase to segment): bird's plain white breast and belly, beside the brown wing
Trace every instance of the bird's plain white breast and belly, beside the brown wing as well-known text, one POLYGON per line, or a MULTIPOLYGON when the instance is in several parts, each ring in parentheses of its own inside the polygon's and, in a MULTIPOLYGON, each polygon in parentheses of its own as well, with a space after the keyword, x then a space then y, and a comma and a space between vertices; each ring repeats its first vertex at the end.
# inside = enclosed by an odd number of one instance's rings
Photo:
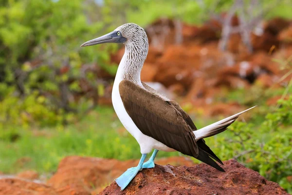
POLYGON ((119 93, 119 84, 121 80, 122 79, 119 78, 119 70, 118 70, 117 76, 113 84, 112 94, 111 94, 112 105, 113 105, 114 111, 116 112, 117 116, 119 117, 124 127, 138 141, 140 145, 141 153, 142 154, 150 153, 152 149, 162 150, 166 152, 175 151, 174 149, 167 147, 166 145, 157 141, 156 139, 144 135, 138 129, 138 127, 135 125, 131 117, 129 117, 124 107, 124 104, 122 102, 122 99, 119 93))

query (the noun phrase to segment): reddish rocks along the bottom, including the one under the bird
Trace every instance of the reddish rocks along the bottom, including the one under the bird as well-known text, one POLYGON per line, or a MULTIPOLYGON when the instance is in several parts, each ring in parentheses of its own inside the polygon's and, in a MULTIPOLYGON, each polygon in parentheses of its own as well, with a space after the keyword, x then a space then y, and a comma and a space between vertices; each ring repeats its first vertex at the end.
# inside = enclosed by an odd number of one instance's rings
POLYGON ((120 191, 114 179, 138 161, 68 156, 46 183, 34 180, 37 175, 33 171, 0 176, 0 195, 288 195, 278 184, 236 160, 225 161, 226 173, 222 173, 183 156, 156 160, 154 169, 139 172, 120 191))

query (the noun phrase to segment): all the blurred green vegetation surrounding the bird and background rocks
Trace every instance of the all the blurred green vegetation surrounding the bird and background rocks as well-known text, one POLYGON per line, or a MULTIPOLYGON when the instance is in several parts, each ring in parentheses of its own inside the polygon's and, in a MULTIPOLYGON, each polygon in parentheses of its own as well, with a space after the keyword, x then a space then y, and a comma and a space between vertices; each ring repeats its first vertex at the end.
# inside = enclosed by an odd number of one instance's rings
MULTIPOLYGON (((123 130, 110 103, 105 103, 110 99, 118 63, 113 58, 120 45, 80 48, 83 42, 134 22, 148 29, 154 46, 157 38, 150 27, 155 21, 166 18, 178 24, 177 36, 183 24, 200 28, 216 19, 222 26, 215 38, 218 50, 226 51, 232 17, 241 16, 243 25, 233 30, 244 37, 262 21, 274 18, 289 21, 291 29, 291 7, 290 0, 0 0, 0 171, 50 173, 69 155, 140 157, 138 144, 123 130)), ((167 34, 162 35, 167 39, 167 34)), ((177 36, 178 44, 183 44, 181 39, 177 36)), ((291 48, 292 38, 285 41, 285 47, 291 48)), ((257 52, 252 40, 243 42, 249 55, 257 52)), ((276 49, 272 44, 265 55, 276 49)), ((229 131, 206 141, 222 160, 236 158, 292 193, 289 51, 285 58, 274 54, 269 59, 272 66, 284 70, 278 75, 278 82, 286 80, 284 84, 263 87, 252 80, 250 87, 232 87, 216 97, 218 102, 258 107, 248 121, 236 122, 229 131), (277 103, 267 103, 276 96, 280 97, 277 103)), ((199 128, 218 119, 196 110, 185 98, 189 93, 184 89, 176 99, 199 128)))

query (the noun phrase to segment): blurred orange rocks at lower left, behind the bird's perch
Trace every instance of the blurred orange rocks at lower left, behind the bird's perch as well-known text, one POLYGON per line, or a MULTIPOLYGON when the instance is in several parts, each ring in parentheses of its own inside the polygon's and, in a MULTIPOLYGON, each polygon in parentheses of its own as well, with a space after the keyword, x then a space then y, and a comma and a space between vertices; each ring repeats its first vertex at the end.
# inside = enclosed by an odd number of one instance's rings
MULTIPOLYGON (((94 157, 68 156, 54 176, 41 183, 35 171, 24 171, 17 176, 0 173, 0 195, 96 195, 139 160, 119 161, 94 157)), ((188 157, 157 159, 158 164, 194 166, 188 157)))

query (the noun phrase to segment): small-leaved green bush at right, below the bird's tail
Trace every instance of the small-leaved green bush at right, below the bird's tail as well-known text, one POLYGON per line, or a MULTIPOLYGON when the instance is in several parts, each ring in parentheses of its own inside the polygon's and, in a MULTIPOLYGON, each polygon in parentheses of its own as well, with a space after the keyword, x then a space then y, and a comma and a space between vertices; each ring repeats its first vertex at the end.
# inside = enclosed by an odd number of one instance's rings
POLYGON ((236 158, 291 193, 287 176, 292 175, 292 96, 278 103, 279 108, 268 108, 264 121, 235 122, 224 137, 208 138, 206 143, 223 159, 236 158))

